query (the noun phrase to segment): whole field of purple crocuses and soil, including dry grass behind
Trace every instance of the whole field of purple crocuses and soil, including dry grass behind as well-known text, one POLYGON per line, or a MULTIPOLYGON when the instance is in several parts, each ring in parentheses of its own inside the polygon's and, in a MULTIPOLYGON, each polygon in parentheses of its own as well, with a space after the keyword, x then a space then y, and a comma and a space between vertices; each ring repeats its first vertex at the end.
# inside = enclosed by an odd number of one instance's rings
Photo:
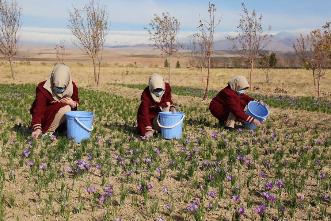
MULTIPOLYGON (((265 96, 270 115, 260 130, 230 132, 215 126, 212 96, 177 88, 205 88, 200 71, 173 68, 172 99, 186 116, 182 138, 164 140, 134 134, 142 90, 114 84, 147 84, 153 73, 167 79, 166 68, 102 67, 96 87, 91 66, 69 66, 79 110, 96 114, 82 143, 30 137, 34 90, 53 65, 15 64, 15 82, 9 65, 0 66, 1 219, 331 219, 330 74, 317 99, 311 72, 274 70, 267 84, 255 70, 249 92, 265 96)), ((210 88, 235 75, 248 70, 212 69, 210 88)))

